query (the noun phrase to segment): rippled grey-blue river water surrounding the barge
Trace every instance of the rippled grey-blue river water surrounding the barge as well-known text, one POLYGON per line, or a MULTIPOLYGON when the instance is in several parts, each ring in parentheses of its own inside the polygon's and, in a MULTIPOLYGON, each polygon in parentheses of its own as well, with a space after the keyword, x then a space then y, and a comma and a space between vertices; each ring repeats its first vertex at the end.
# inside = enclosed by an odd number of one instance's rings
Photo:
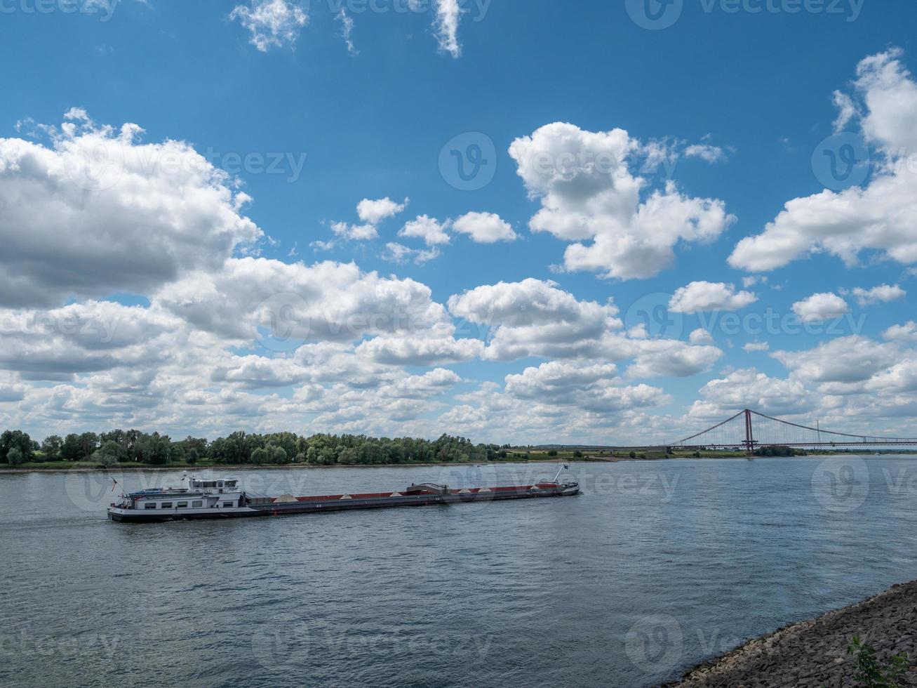
MULTIPOLYGON (((267 494, 335 494, 553 472, 238 475, 267 494)), ((104 474, 0 475, 0 683, 654 685, 917 577, 915 461, 579 463, 574 476, 573 498, 131 525, 105 520, 104 474)))

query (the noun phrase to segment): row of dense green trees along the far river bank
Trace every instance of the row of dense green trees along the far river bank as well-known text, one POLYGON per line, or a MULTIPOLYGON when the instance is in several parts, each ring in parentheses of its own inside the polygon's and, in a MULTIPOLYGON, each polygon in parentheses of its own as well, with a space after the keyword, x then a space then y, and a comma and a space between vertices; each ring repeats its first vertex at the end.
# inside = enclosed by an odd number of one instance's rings
POLYGON ((269 435, 241 430, 209 441, 191 436, 173 440, 158 432, 111 430, 96 434, 50 435, 40 443, 22 430, 0 435, 0 462, 17 466, 26 462, 94 461, 104 466, 117 463, 215 465, 285 465, 310 463, 319 466, 497 461, 506 449, 495 444, 472 444, 468 438, 443 435, 436 440, 418 438, 370 438, 366 435, 317 434, 303 437, 293 432, 269 435))

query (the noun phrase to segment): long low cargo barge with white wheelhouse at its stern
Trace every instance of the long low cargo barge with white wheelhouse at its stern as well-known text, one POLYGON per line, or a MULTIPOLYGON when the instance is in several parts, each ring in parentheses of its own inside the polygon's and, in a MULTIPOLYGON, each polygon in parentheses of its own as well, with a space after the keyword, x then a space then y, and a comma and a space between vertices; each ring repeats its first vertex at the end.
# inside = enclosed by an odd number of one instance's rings
MULTIPOLYGON (((561 469, 562 470, 562 469, 561 469)), ((558 476, 560 470, 558 470, 558 476)), ((322 494, 294 497, 262 497, 246 494, 238 479, 202 480, 184 475, 178 488, 152 488, 121 495, 108 506, 108 518, 128 523, 156 523, 196 518, 287 516, 397 506, 454 505, 465 502, 496 502, 507 499, 566 497, 580 493, 580 483, 466 487, 450 489, 435 483, 412 484, 398 492, 369 494, 322 494)), ((113 488, 114 489, 114 488, 113 488)))

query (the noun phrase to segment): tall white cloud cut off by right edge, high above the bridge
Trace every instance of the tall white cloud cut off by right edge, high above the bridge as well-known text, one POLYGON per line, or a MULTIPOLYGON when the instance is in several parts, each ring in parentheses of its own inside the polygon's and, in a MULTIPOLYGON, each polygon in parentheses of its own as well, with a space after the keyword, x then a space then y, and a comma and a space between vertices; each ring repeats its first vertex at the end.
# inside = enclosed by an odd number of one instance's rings
MULTIPOLYGON (((865 187, 788 202, 763 233, 742 239, 729 263, 751 272, 774 270, 815 252, 827 252, 854 265, 864 251, 900 263, 917 261, 917 173, 909 158, 917 150, 917 83, 900 61, 900 50, 860 62, 854 83, 865 116, 860 128, 875 148, 872 181, 865 187)), ((836 98, 837 124, 858 117, 854 101, 836 98)))

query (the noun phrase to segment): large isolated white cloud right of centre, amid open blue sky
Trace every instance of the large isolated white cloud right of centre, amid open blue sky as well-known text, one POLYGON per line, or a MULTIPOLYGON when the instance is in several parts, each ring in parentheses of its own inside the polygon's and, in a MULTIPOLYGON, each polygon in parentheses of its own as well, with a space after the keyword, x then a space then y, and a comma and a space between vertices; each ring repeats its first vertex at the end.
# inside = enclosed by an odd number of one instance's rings
POLYGON ((567 270, 651 277, 671 265, 679 242, 711 241, 735 220, 722 201, 685 196, 672 182, 641 200, 647 182, 628 169, 641 151, 623 129, 591 132, 562 122, 510 146, 517 173, 542 205, 529 227, 574 242, 567 270))

